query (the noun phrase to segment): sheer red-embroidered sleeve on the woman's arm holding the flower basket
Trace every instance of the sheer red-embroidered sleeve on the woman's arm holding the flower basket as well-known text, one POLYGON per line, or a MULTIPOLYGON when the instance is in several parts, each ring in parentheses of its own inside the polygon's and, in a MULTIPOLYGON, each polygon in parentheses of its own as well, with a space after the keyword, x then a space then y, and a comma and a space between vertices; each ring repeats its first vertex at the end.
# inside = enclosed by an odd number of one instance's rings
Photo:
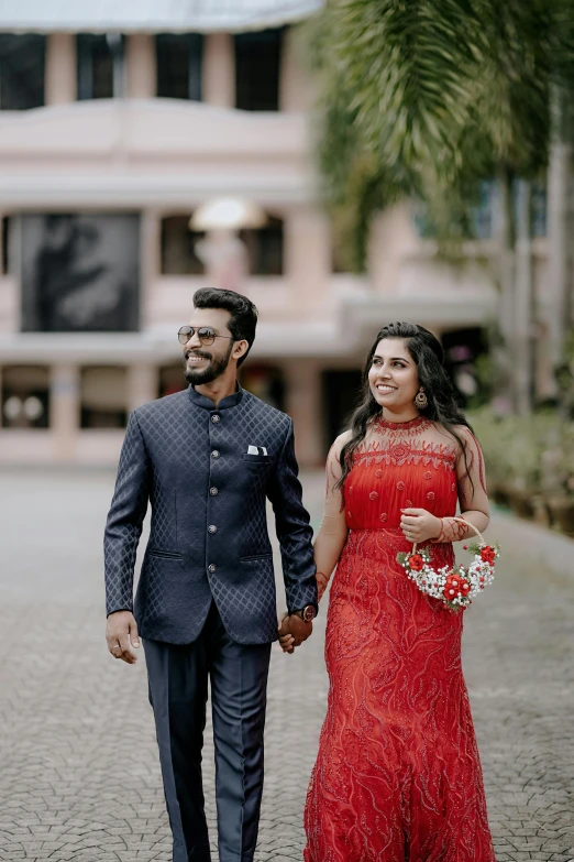
MULTIPOLYGON (((486 493, 484 457, 474 434, 466 427, 459 427, 459 436, 464 444, 456 458, 456 487, 459 489, 459 505, 461 517, 484 533, 490 521, 490 509, 486 493), (466 457, 465 457, 466 456, 466 457)), ((437 542, 459 542, 474 538, 475 533, 460 521, 443 517, 442 530, 437 542)))

